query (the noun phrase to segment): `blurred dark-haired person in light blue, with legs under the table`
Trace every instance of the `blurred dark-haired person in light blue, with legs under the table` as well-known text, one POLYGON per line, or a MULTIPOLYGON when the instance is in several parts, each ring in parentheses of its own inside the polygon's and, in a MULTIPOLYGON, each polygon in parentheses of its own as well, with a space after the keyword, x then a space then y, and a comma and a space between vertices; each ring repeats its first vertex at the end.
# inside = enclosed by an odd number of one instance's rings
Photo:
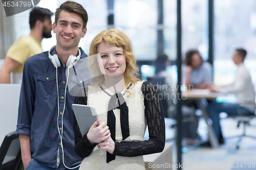
MULTIPOLYGON (((211 65, 203 61, 199 51, 189 50, 185 54, 183 67, 183 77, 187 90, 205 89, 211 87, 211 65)), ((183 82, 184 82, 183 80, 183 82)), ((189 122, 184 124, 184 137, 197 139, 199 138, 197 129, 199 125, 199 117, 195 115, 198 106, 194 100, 182 101, 183 117, 189 117, 189 122), (191 118, 190 118, 191 117, 191 118), (191 119, 191 120, 190 120, 191 119)))

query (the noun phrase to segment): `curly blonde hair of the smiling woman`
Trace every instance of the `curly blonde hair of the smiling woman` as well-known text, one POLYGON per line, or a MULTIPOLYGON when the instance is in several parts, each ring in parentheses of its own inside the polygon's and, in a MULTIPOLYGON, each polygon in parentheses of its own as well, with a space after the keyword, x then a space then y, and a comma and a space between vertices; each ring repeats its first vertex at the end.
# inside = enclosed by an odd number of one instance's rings
POLYGON ((121 31, 116 29, 105 30, 96 35, 90 46, 90 56, 95 55, 95 57, 90 57, 88 60, 89 69, 92 71, 91 78, 96 79, 96 83, 103 83, 104 76, 101 74, 97 61, 97 46, 101 42, 106 42, 108 44, 115 44, 117 47, 123 48, 123 54, 125 56, 126 68, 123 74, 125 86, 130 83, 136 83, 140 81, 138 79, 138 67, 136 65, 136 59, 133 55, 133 47, 130 39, 121 31), (101 75, 101 76, 98 76, 101 75))

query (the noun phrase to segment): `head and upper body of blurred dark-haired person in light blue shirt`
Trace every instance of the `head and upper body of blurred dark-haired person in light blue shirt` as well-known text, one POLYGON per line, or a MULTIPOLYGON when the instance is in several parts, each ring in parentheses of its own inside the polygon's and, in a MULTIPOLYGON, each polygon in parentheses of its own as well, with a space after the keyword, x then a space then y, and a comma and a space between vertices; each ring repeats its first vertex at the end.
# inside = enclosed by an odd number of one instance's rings
POLYGON ((203 61, 197 50, 189 50, 185 55, 185 85, 190 89, 191 85, 194 88, 204 89, 211 87, 211 70, 212 67, 207 61, 203 61))

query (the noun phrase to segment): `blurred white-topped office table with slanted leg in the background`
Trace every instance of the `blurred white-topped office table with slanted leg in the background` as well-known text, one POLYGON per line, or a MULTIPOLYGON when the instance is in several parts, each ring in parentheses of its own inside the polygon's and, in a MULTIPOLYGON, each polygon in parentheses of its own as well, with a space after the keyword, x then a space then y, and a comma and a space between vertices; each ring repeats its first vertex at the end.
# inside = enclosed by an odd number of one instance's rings
POLYGON ((186 96, 186 100, 195 100, 198 108, 202 110, 203 118, 205 119, 205 122, 209 129, 209 142, 212 148, 218 148, 220 143, 215 134, 214 129, 212 128, 211 124, 208 123, 209 115, 207 111, 207 108, 208 108, 207 100, 214 100, 220 95, 221 93, 210 92, 207 89, 194 89, 194 90, 182 92, 183 99, 186 96))

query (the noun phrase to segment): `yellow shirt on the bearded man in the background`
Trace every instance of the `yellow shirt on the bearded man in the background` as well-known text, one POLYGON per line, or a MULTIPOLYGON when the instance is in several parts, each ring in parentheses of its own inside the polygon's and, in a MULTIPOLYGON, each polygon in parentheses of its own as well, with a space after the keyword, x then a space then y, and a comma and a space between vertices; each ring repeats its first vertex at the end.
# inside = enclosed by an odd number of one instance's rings
POLYGON ((13 71, 14 73, 19 73, 23 72, 24 63, 29 57, 42 52, 41 43, 29 35, 19 37, 9 48, 6 56, 20 63, 13 71))

